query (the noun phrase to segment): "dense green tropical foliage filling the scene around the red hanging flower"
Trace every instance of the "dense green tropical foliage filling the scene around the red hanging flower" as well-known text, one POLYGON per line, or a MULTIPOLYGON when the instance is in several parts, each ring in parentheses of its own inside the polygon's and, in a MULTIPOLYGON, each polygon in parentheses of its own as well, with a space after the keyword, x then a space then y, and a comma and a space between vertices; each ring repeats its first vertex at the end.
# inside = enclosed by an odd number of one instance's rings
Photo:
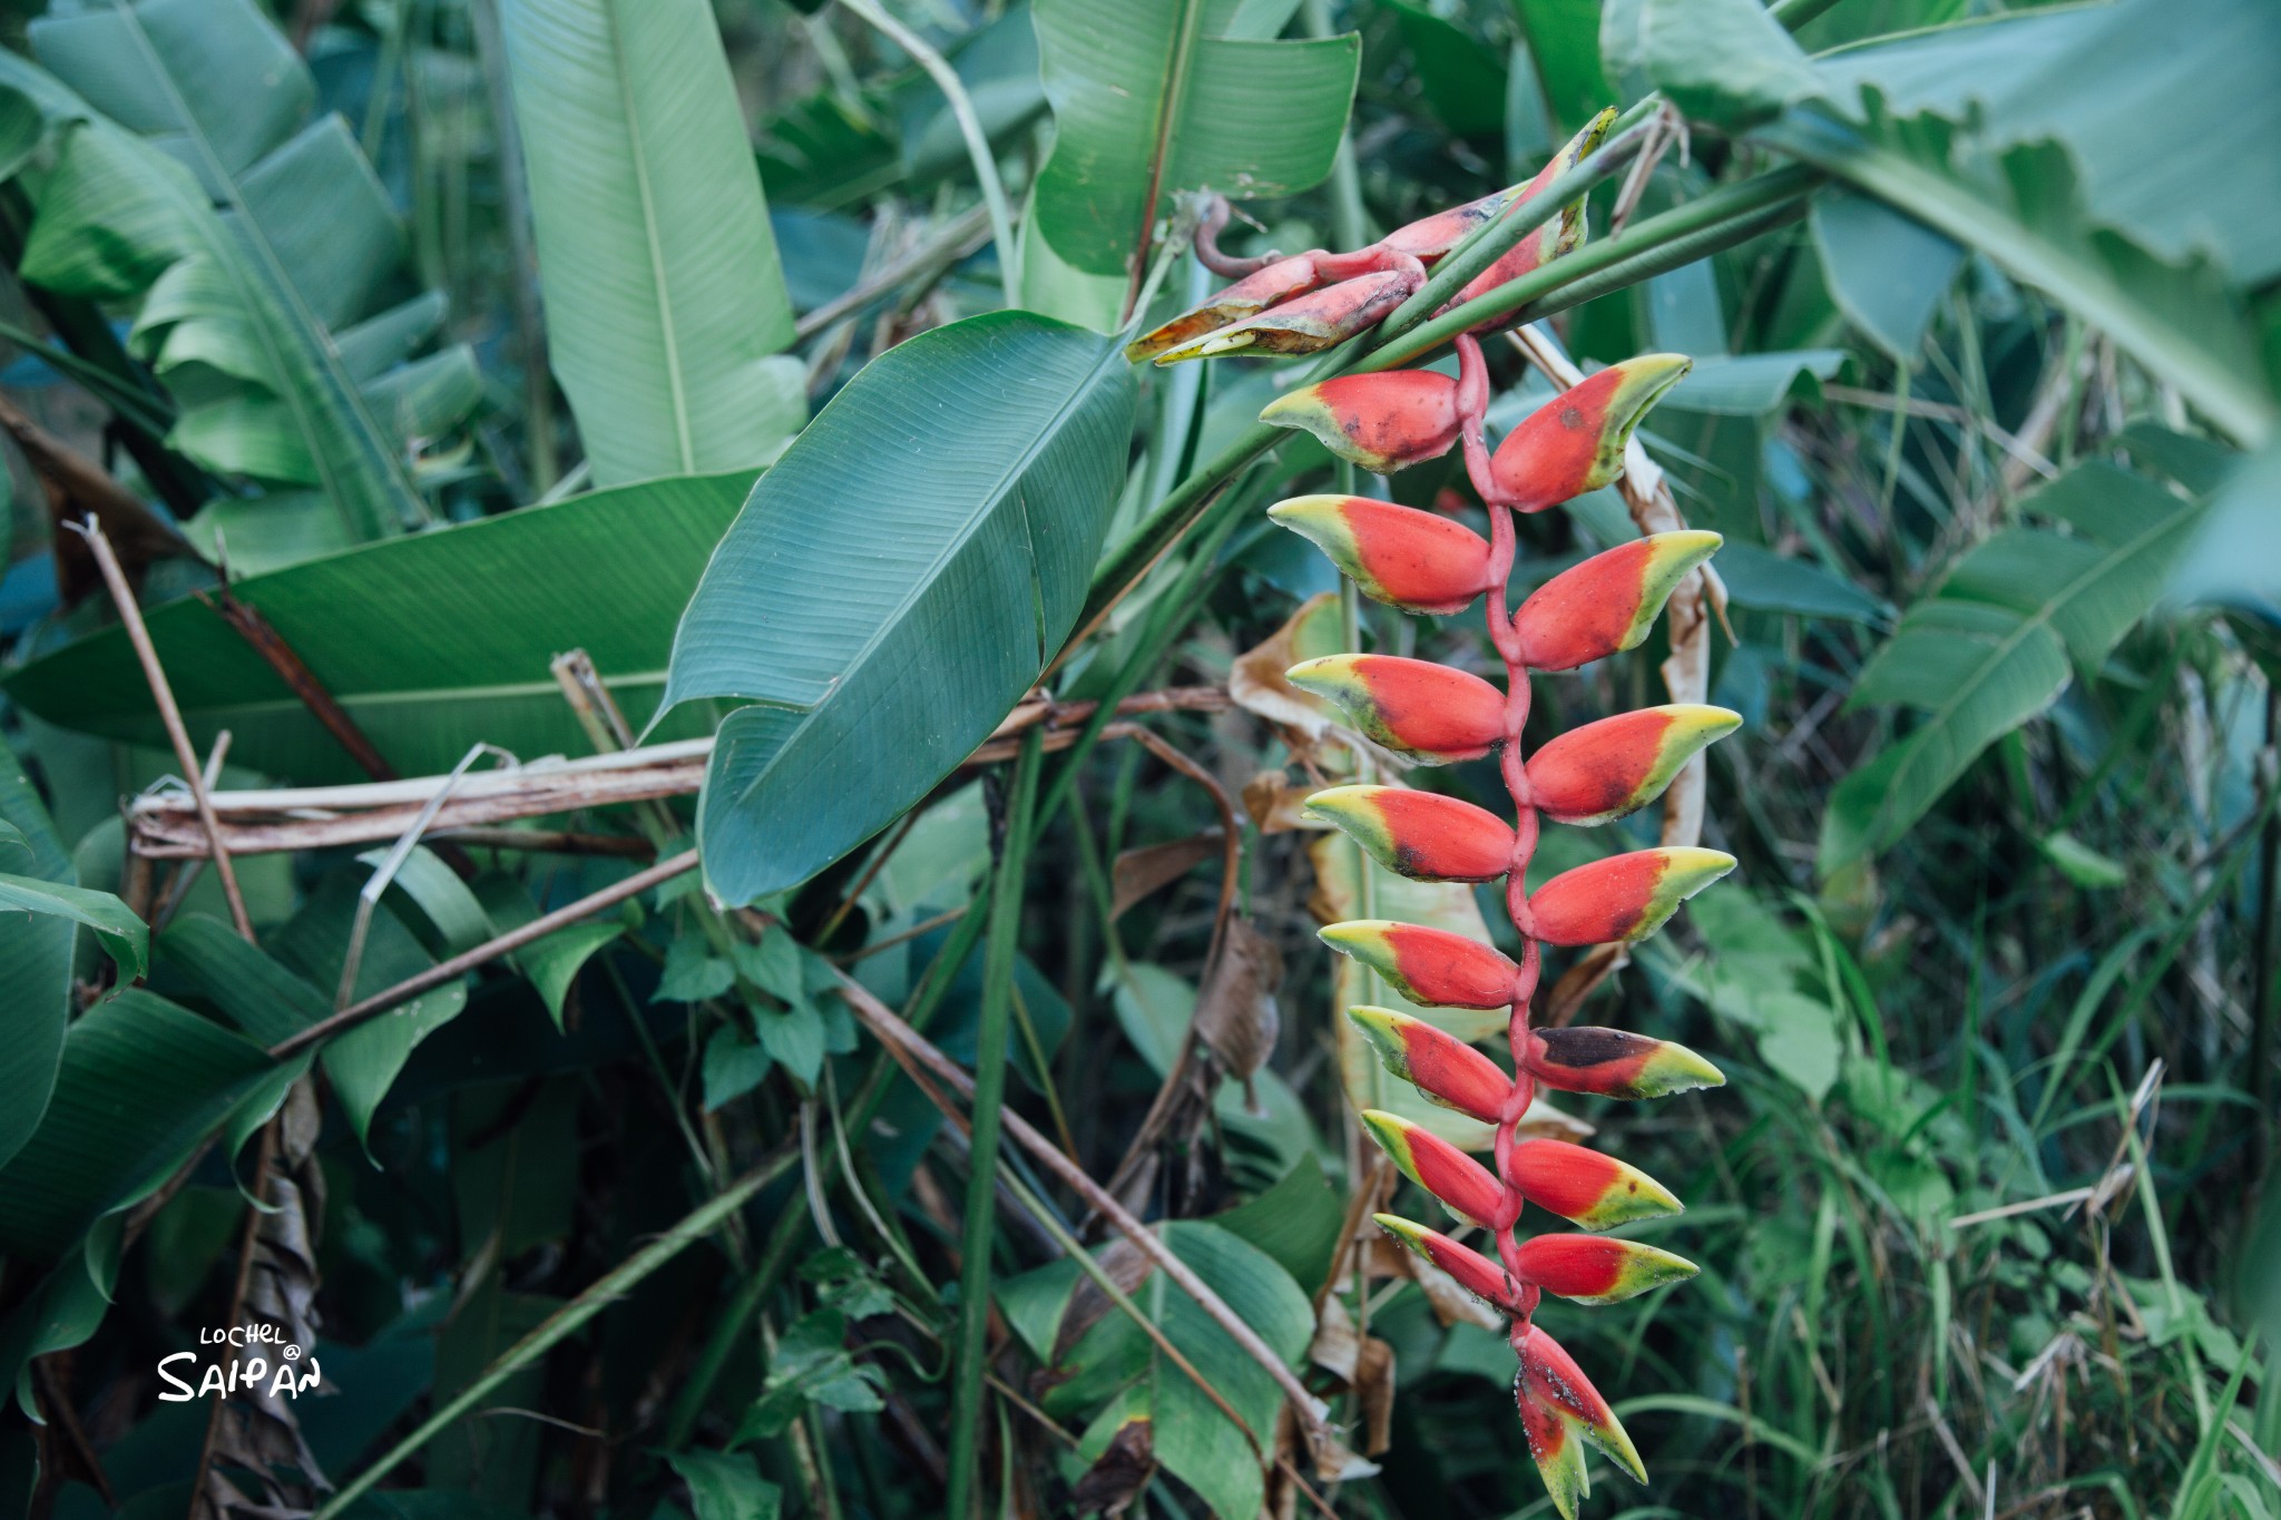
POLYGON ((1551 1513, 1503 1338, 1357 1231, 1437 1215, 1314 937, 1503 916, 1298 818, 1280 679, 1492 661, 1339 599, 1264 508, 1353 469, 1257 422, 1492 314, 1496 433, 1693 356, 1640 440, 1727 540, 1531 734, 1745 718, 1740 868, 1569 1010, 1727 1085, 1547 1119, 1702 1265, 1544 1310, 1651 1472, 1590 1513, 2281 1513, 2270 0, 0 9, 0 1513, 1551 1513), (1608 105, 1590 239, 1462 321, 1487 242, 1127 362, 1200 191, 1357 248, 1608 105), (162 1397, 233 1324, 322 1381, 162 1397))

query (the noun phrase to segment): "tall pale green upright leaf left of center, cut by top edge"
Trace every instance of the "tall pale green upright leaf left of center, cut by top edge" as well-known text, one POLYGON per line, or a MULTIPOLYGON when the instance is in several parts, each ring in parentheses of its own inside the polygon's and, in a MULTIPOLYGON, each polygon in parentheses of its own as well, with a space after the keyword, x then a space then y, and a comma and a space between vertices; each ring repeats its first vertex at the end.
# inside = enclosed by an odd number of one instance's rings
POLYGON ((705 0, 509 0, 547 346, 593 479, 764 465, 807 419, 705 0))

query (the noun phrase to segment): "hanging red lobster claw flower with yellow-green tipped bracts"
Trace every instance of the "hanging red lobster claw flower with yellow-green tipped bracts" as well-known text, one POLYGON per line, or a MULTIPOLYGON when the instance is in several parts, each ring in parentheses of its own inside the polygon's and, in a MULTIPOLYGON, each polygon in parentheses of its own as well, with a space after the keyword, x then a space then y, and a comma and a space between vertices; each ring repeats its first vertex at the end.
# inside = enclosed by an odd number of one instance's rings
MULTIPOLYGON (((1590 153, 1604 114, 1531 185, 1417 221, 1359 253, 1232 264, 1241 273, 1209 303, 1131 346, 1159 365, 1213 353, 1305 353, 1366 330, 1423 283, 1423 271, 1471 230, 1505 214, 1547 178, 1590 153)), ((1462 299, 1512 280, 1583 237, 1583 205, 1562 207, 1478 276, 1462 299)), ((1537 1206, 1585 1231, 1679 1212, 1661 1183, 1610 1155, 1558 1139, 1521 1139, 1537 1087, 1610 1098, 1661 1098, 1724 1082, 1695 1051, 1601 1028, 1531 1028, 1544 946, 1597 946, 1654 934, 1693 893, 1734 868, 1718 850, 1658 848, 1613 855, 1526 889, 1542 823, 1599 825, 1656 800, 1679 770, 1740 722, 1715 706, 1651 706, 1572 729, 1521 754, 1533 670, 1574 670, 1640 645, 1665 599, 1718 549, 1718 533, 1651 533, 1544 581, 1512 608, 1515 513, 1537 513, 1608 485, 1622 474, 1631 433, 1688 371, 1674 353, 1610 365, 1553 397, 1492 451, 1483 435, 1489 399, 1480 340, 1458 340, 1458 376, 1435 371, 1350 374, 1302 385, 1261 412, 1305 428, 1332 453, 1380 474, 1462 447, 1467 476, 1489 508, 1489 538, 1407 506, 1371 497, 1296 497, 1268 508, 1316 542, 1355 586, 1407 613, 1460 613, 1487 595, 1489 643, 1505 668, 1499 688, 1478 675, 1421 659, 1332 654, 1293 665, 1293 686, 1328 697, 1373 743, 1412 761, 1446 766, 1494 754, 1515 820, 1405 786, 1353 784, 1318 791, 1309 811, 1350 834, 1389 871, 1423 882, 1505 882, 1519 959, 1448 930, 1391 921, 1332 923, 1323 941, 1371 966, 1423 1007, 1510 1010, 1512 1073, 1458 1037, 1385 1007, 1348 1019, 1387 1071, 1426 1098, 1494 1126, 1494 1164, 1483 1164, 1426 1126, 1369 1110, 1362 1123, 1403 1174, 1448 1212, 1487 1231, 1494 1258, 1442 1231, 1378 1215, 1398 1242, 1453 1276, 1510 1319, 1519 1358, 1515 1397, 1531 1454, 1553 1504, 1574 1518, 1588 1490, 1583 1447, 1597 1447, 1635 1479, 1640 1454, 1576 1367, 1537 1324, 1542 1294, 1615 1304, 1695 1274, 1670 1251, 1599 1233, 1553 1233, 1521 1242, 1515 1224, 1537 1206)))

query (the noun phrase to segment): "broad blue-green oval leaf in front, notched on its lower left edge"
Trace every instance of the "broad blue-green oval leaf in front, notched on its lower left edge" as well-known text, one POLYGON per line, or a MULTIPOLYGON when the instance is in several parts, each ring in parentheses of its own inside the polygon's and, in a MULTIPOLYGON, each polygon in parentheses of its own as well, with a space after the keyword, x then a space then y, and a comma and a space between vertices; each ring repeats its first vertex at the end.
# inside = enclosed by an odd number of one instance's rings
POLYGON ((712 889, 794 886, 869 839, 1061 647, 1118 488, 1118 346, 995 312, 874 360, 753 488, 673 640, 666 709, 721 725, 700 800, 712 889))

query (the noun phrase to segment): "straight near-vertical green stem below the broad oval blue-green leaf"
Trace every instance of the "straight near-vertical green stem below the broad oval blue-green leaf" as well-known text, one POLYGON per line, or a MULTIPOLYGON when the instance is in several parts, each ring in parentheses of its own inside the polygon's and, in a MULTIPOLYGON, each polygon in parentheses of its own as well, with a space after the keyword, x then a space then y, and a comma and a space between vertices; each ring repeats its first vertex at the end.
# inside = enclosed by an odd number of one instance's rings
POLYGON ((983 941, 983 1005, 974 1035, 974 1139, 967 1164, 967 1221, 958 1242, 958 1383, 951 1390, 951 1481, 942 1513, 967 1520, 976 1506, 974 1452, 983 1408, 983 1356, 990 1335, 990 1244, 997 1231, 999 1133, 1006 1108, 1006 1025, 1013 957, 1022 939, 1022 877, 1038 807, 1045 729, 1031 727, 1013 768, 1006 843, 990 884, 990 937, 983 941))

